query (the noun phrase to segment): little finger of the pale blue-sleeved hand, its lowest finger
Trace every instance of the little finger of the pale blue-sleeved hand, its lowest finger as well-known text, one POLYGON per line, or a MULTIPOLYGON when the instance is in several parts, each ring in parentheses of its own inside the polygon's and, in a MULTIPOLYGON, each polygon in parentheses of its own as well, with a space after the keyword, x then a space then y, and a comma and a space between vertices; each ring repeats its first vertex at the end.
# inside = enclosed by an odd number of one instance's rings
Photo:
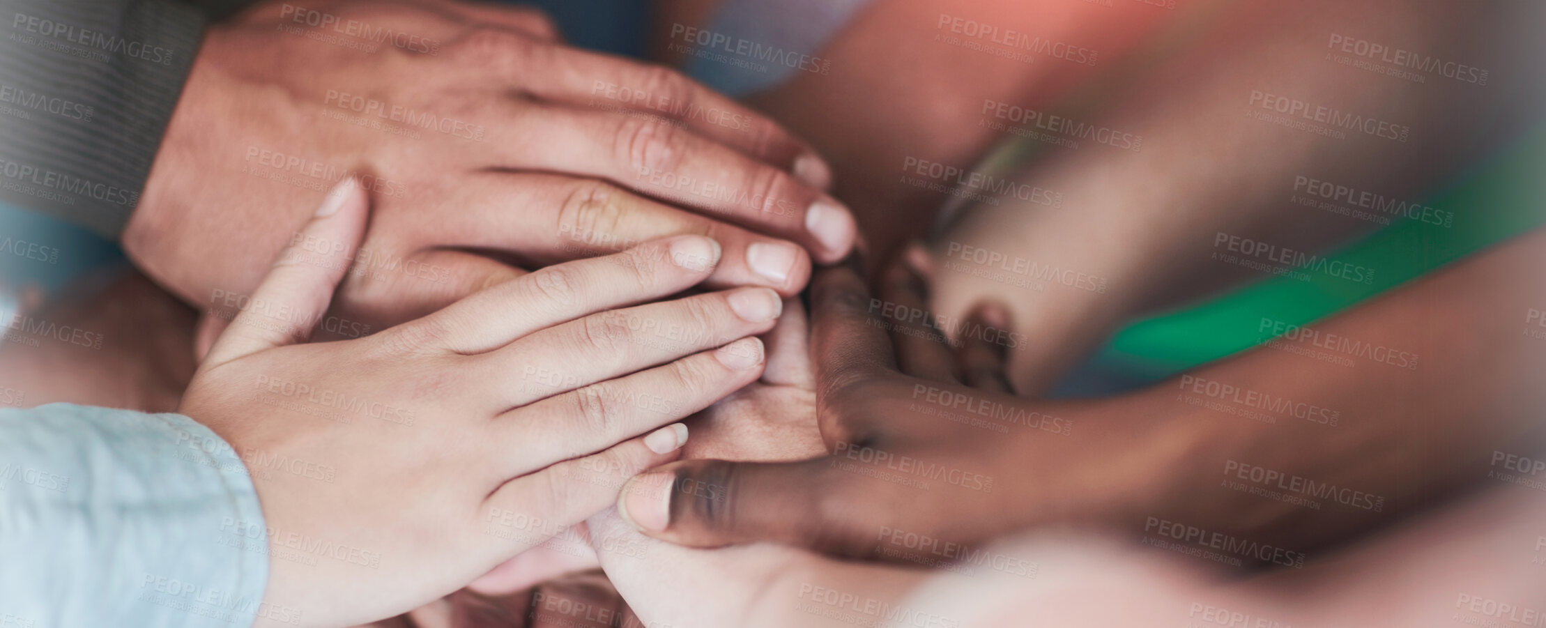
POLYGON ((492 538, 501 540, 507 551, 504 558, 509 558, 541 543, 544 529, 567 529, 612 506, 629 478, 676 459, 686 438, 686 425, 671 424, 601 453, 513 478, 484 500, 481 524, 492 538), (519 521, 543 521, 543 529, 521 531, 519 521), (512 534, 498 534, 501 527, 512 534))

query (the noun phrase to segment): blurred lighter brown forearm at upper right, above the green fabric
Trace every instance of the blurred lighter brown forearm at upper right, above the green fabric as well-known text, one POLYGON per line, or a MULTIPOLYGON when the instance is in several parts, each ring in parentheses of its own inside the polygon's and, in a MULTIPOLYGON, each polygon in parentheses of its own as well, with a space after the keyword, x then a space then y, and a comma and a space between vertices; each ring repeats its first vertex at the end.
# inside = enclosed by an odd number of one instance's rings
MULTIPOLYGON (((1226 9, 1194 43, 1152 56, 1158 60, 1149 65, 1133 62, 1127 68, 1132 84, 1110 94, 1118 104, 1105 111, 1054 108, 1017 124, 1016 110, 985 105, 983 118, 1040 136, 1059 136, 1059 124, 1050 118, 1057 114, 1064 122, 1113 130, 1113 138, 1141 138, 1141 144, 1129 142, 1136 145, 1122 150, 1082 141, 1070 150, 1022 141, 1037 159, 1017 181, 1062 203, 972 207, 935 243, 938 258, 963 271, 943 274, 948 278, 935 299, 942 317, 959 317, 983 294, 1000 292, 1016 331, 1033 339, 1014 356, 1014 379, 1034 388, 1135 312, 1263 277, 1215 257, 1272 266, 1263 255, 1241 252, 1246 238, 1279 252, 1313 252, 1391 221, 1487 220, 1481 209, 1464 217, 1424 215, 1421 201, 1435 181, 1475 162, 1520 125, 1523 107, 1532 102, 1527 94, 1537 93, 1540 82, 1523 68, 1532 56, 1524 54, 1529 39, 1515 25, 1531 22, 1526 14, 1537 9, 1470 15, 1472 9, 1459 5, 1432 11, 1319 5, 1226 9), (1459 22, 1472 26, 1456 32, 1450 26, 1459 22), (1364 57, 1343 53, 1334 37, 1469 63, 1489 71, 1487 85, 1461 80, 1469 74, 1422 73, 1425 80, 1413 82, 1343 67, 1330 57, 1364 57), (1279 105, 1303 105, 1306 111, 1277 113, 1279 105), (1336 113, 1317 118, 1320 107, 1336 113), (1263 114, 1342 138, 1257 119, 1263 114), (1339 122, 1351 121, 1348 116, 1371 121, 1373 133, 1339 122), (1311 181, 1419 209, 1407 215, 1357 200, 1322 198, 1311 181), (1306 207, 1297 198, 1364 210, 1365 220, 1306 207), (966 274, 1023 274, 979 263, 983 252, 1090 280, 1074 286, 1031 280, 1027 289, 1005 289, 966 274), (1098 285, 1105 289, 1095 291, 1098 285)), ((1025 110, 1037 107, 1027 104, 1025 110)), ((1377 275, 1381 269, 1368 271, 1365 275, 1377 275)))

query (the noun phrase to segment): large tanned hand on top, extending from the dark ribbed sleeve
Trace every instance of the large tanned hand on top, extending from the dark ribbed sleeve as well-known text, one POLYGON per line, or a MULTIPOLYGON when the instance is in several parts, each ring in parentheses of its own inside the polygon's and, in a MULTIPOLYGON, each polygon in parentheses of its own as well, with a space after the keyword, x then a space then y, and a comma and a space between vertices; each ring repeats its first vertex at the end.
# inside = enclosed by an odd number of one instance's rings
POLYGON ((519 272, 506 261, 666 235, 724 246, 708 286, 784 295, 812 257, 849 251, 853 220, 805 144, 676 71, 550 31, 530 11, 428 0, 269 2, 212 26, 125 249, 184 300, 223 306, 356 173, 374 212, 335 314, 376 328, 519 272))

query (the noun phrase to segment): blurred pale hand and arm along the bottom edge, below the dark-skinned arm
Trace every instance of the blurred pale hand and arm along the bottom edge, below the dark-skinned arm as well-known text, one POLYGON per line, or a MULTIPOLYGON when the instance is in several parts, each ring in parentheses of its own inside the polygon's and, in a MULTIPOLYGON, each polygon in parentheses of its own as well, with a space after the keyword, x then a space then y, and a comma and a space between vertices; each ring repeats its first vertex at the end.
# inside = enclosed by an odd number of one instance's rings
MULTIPOLYGON (((1456 619, 1521 622, 1546 605, 1537 577, 1546 551, 1543 514, 1538 492, 1483 490, 1302 569, 1248 577, 1078 531, 1008 535, 968 551, 980 552, 982 563, 951 571, 838 561, 765 543, 719 549, 657 543, 648 560, 606 552, 601 560, 642 620, 682 628, 852 626, 880 617, 962 628, 1017 625, 1025 617, 1091 628, 1255 622, 1441 628, 1456 619), (994 569, 994 560, 1028 563, 1033 577, 994 569), (1500 605, 1510 611, 1500 613, 1500 605)), ((637 541, 612 512, 592 517, 591 527, 614 535, 612 544, 637 541)))

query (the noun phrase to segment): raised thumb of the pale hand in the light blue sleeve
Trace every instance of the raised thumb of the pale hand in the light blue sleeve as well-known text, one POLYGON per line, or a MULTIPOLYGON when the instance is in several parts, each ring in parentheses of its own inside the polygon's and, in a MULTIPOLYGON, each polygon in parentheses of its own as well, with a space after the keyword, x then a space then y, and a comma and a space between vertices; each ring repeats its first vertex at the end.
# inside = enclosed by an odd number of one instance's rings
POLYGON ((275 346, 305 342, 328 312, 354 249, 365 235, 368 200, 352 176, 328 192, 317 213, 291 237, 252 299, 209 350, 220 365, 275 346))

